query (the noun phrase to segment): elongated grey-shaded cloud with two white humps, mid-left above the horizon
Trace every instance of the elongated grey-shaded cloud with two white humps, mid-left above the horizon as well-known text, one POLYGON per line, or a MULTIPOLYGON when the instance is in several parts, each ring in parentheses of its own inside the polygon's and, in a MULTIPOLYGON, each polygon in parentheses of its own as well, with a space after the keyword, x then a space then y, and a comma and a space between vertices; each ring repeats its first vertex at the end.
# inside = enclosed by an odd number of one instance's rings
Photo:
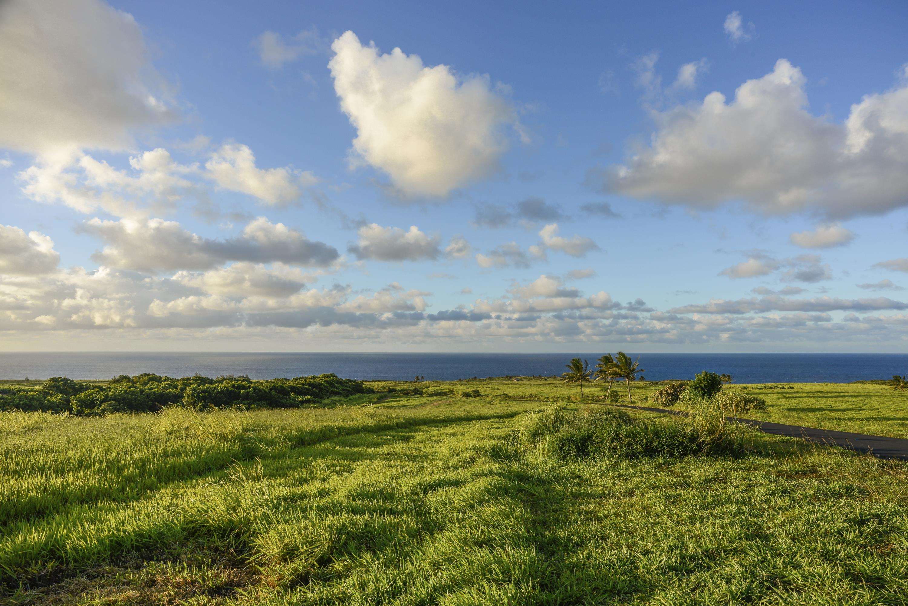
POLYGON ((325 266, 339 258, 328 244, 307 239, 284 224, 258 217, 238 237, 204 238, 161 219, 92 219, 81 228, 106 244, 93 259, 119 269, 139 272, 209 270, 228 261, 281 262, 325 266))

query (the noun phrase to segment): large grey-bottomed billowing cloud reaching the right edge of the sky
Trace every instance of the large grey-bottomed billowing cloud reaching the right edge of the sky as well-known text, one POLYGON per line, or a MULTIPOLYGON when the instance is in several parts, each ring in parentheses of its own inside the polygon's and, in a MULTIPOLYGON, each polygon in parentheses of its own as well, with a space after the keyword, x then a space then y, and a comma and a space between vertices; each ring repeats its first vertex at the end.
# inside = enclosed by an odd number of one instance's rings
POLYGON ((608 193, 712 208, 744 201, 765 214, 880 214, 908 204, 908 85, 865 96, 844 124, 807 109, 806 79, 780 59, 727 103, 655 112, 652 144, 592 172, 608 193))

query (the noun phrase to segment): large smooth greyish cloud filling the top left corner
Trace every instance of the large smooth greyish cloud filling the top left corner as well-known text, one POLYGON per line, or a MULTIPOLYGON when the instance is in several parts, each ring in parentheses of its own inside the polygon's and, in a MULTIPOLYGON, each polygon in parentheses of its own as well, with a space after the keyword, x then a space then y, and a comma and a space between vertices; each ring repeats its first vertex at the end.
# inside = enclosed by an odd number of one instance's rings
POLYGON ((173 119, 132 15, 102 0, 0 3, 0 147, 124 149, 173 119))

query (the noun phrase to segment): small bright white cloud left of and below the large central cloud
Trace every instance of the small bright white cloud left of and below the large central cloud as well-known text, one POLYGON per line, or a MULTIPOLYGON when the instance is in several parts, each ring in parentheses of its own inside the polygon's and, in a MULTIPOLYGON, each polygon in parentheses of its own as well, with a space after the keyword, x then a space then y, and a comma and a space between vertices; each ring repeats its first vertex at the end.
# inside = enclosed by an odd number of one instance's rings
POLYGON ((250 194, 266 204, 298 200, 301 189, 318 182, 315 175, 291 168, 262 169, 252 150, 242 144, 224 144, 205 163, 207 176, 224 189, 250 194))

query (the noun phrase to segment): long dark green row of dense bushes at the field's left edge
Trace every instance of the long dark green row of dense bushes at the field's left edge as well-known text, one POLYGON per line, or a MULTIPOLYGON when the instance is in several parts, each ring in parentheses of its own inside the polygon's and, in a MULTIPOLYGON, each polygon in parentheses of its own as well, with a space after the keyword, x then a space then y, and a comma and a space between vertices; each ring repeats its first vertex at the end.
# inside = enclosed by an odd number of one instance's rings
POLYGON ((172 404, 193 410, 233 406, 295 408, 371 391, 360 381, 341 379, 333 373, 270 381, 252 381, 247 376, 232 375, 216 379, 199 375, 173 379, 151 373, 122 374, 106 385, 53 377, 37 389, 3 389, 0 411, 155 412, 172 404))

